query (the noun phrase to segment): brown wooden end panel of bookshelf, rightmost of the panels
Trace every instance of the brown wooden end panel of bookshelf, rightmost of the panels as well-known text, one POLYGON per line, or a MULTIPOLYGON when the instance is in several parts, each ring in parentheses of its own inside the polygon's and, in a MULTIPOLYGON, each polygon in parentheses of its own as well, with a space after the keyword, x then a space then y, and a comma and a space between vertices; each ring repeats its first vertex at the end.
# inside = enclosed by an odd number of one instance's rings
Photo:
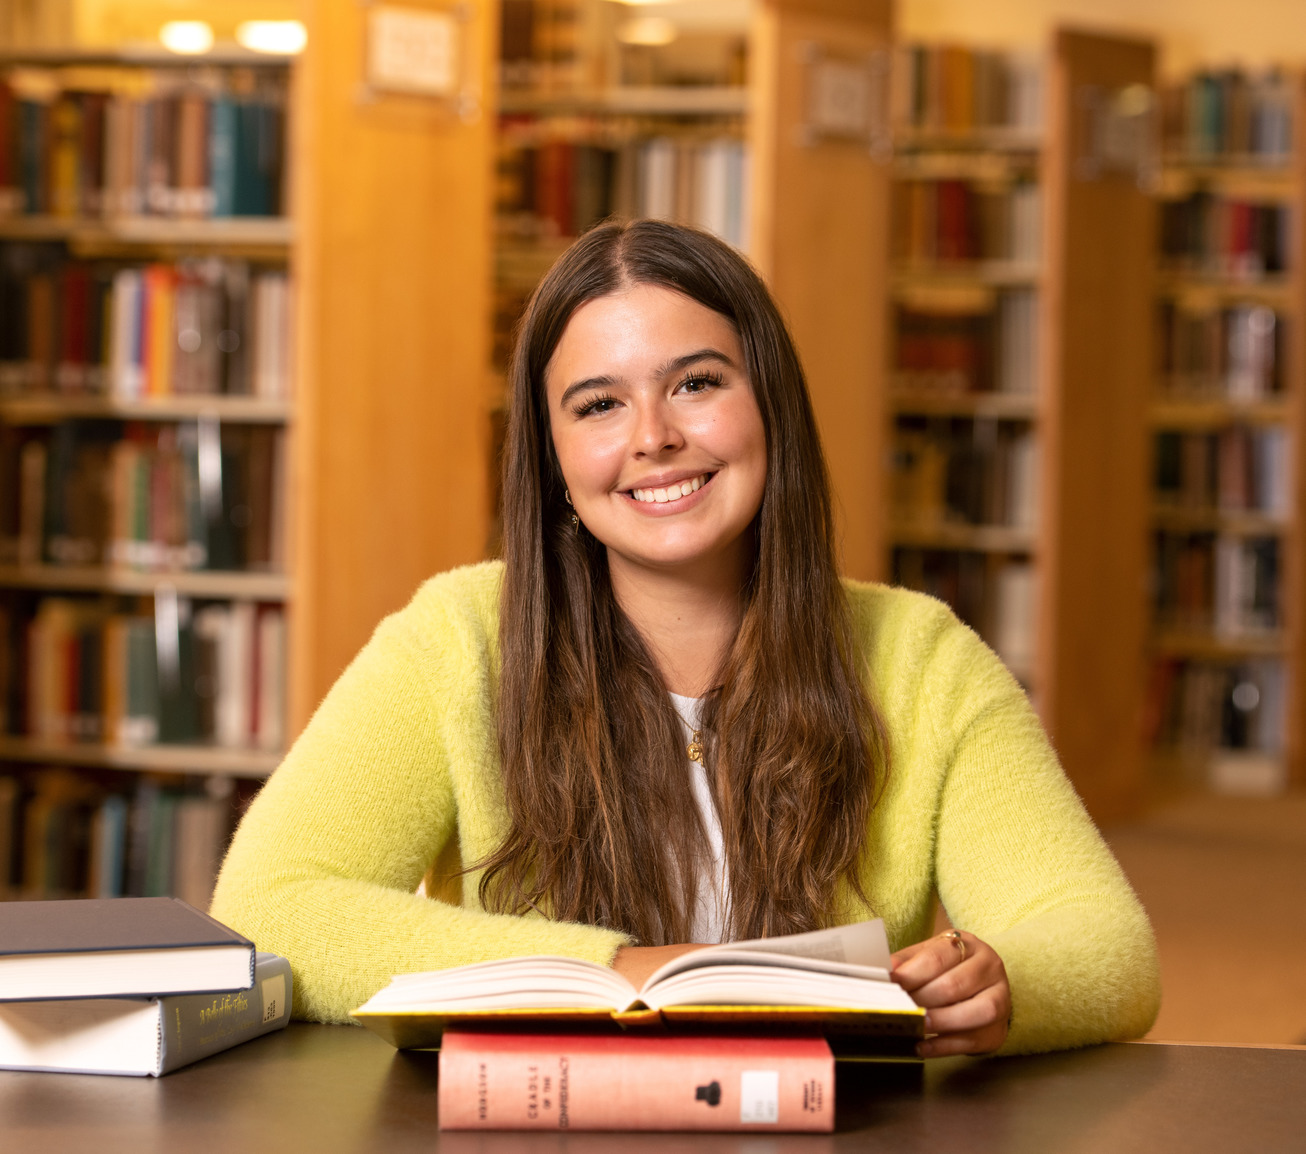
POLYGON ((1143 786, 1155 204, 1093 172, 1085 101, 1153 84, 1151 44, 1060 31, 1047 93, 1038 706, 1098 820, 1143 786))

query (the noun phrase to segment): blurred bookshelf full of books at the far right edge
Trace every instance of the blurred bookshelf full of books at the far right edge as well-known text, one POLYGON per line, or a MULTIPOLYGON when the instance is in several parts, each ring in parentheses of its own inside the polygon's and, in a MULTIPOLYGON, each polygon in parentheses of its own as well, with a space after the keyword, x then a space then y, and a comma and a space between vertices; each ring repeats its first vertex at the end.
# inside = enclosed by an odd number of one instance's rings
POLYGON ((1299 73, 1205 70, 1162 101, 1152 436, 1158 786, 1301 785, 1303 435, 1299 73))

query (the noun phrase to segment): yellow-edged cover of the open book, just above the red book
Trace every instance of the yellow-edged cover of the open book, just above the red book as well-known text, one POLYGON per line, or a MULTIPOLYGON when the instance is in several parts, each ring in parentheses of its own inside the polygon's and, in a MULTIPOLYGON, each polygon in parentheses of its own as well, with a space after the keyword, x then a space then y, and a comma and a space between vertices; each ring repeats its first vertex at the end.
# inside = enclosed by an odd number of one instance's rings
POLYGON ((755 1034, 819 1033, 849 1061, 917 1061, 925 1010, 866 1010, 798 1005, 677 1005, 661 1010, 593 1008, 426 1010, 357 1009, 350 1017, 396 1050, 439 1050, 449 1029, 503 1033, 755 1034))

